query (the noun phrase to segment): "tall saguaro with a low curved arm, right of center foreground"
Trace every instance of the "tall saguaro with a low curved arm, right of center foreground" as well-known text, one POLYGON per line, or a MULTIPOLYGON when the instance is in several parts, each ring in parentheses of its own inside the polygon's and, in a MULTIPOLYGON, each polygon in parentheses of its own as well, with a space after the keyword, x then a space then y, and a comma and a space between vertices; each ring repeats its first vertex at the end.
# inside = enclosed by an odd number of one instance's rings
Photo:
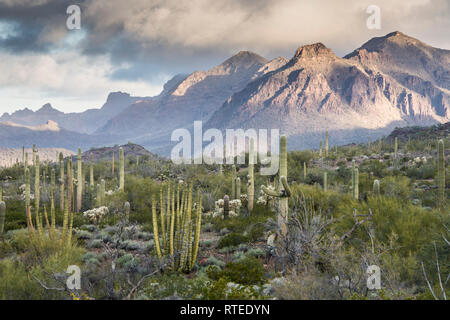
POLYGON ((265 186, 261 186, 263 192, 269 196, 279 199, 278 226, 280 227, 281 236, 287 236, 287 220, 288 220, 288 198, 291 196, 291 188, 287 182, 287 138, 280 137, 280 169, 279 184, 277 190, 271 190, 265 186))

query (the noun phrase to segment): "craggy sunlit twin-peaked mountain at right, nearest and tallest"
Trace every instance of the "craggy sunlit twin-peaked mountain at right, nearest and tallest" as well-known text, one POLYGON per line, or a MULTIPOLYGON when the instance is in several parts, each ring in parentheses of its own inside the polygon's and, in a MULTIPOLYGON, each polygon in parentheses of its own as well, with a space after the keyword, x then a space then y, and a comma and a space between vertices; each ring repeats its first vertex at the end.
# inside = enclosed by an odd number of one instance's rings
POLYGON ((345 143, 395 126, 447 122, 449 59, 449 51, 398 32, 344 58, 321 43, 302 46, 287 64, 233 94, 207 127, 279 128, 296 137, 291 147, 312 147, 325 131, 333 143, 345 143))

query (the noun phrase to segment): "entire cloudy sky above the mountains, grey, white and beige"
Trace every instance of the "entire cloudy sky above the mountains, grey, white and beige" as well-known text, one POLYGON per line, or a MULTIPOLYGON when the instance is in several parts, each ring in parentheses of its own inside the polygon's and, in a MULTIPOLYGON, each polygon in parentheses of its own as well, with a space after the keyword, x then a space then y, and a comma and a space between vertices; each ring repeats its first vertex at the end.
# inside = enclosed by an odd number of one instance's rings
POLYGON ((450 49, 450 1, 0 0, 0 112, 98 108, 111 91, 156 95, 240 50, 291 57, 320 41, 343 56, 395 30, 450 49), (66 26, 70 5, 80 30, 66 26), (379 30, 367 28, 369 5, 379 30))

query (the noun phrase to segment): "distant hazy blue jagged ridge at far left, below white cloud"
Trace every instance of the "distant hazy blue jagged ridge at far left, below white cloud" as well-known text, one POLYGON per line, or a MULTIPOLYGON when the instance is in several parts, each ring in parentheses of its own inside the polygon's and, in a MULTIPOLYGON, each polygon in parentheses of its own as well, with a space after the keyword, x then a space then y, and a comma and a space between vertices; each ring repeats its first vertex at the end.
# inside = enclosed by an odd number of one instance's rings
POLYGON ((128 93, 110 93, 106 103, 100 109, 89 109, 80 113, 64 113, 56 110, 47 103, 41 109, 33 112, 23 109, 12 114, 4 113, 0 117, 0 123, 13 122, 28 126, 36 126, 52 120, 61 128, 79 133, 93 133, 103 126, 109 119, 113 118, 129 105, 145 98, 131 97, 128 93))

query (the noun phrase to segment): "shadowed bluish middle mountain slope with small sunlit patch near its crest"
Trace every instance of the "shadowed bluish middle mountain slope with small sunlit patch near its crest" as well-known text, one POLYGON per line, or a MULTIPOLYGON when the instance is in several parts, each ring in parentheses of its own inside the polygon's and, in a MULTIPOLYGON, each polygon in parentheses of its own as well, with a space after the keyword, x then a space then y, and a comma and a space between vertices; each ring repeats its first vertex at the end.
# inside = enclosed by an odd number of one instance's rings
POLYGON ((194 120, 208 120, 267 62, 255 53, 242 51, 211 70, 177 76, 161 95, 128 107, 97 132, 122 132, 128 136, 169 134, 192 125, 194 120))

